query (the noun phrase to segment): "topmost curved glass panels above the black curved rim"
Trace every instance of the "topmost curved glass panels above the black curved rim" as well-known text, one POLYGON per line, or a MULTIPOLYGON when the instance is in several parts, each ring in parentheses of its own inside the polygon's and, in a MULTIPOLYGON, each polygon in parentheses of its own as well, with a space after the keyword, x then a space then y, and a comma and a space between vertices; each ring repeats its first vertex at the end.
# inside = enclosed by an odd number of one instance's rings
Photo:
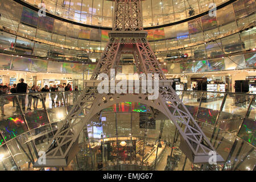
MULTIPOLYGON (((113 1, 103 0, 26 0, 38 7, 43 2, 46 11, 75 22, 95 26, 112 27, 113 1)), ((209 10, 211 3, 216 6, 225 0, 146 0, 142 1, 143 26, 157 26, 177 22, 209 10)))

